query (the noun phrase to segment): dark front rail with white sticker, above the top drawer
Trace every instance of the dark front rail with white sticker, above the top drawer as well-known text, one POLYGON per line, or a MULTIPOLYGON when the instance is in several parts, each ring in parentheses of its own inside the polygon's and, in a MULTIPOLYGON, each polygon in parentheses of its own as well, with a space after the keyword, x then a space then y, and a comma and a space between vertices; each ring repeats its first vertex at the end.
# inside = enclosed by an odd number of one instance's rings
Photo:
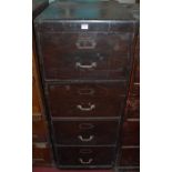
POLYGON ((134 31, 134 23, 128 21, 101 21, 101 20, 93 20, 93 21, 43 21, 41 23, 34 22, 37 30, 42 32, 88 32, 88 31, 111 31, 111 32, 133 32, 134 31))

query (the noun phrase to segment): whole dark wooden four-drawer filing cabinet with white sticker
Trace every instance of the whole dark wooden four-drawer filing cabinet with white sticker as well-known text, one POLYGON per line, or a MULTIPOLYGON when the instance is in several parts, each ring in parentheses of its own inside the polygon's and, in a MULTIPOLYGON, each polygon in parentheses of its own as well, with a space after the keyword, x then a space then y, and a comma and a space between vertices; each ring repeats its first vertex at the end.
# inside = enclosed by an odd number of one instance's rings
POLYGON ((59 1, 34 30, 58 166, 114 166, 138 21, 113 0, 59 1))

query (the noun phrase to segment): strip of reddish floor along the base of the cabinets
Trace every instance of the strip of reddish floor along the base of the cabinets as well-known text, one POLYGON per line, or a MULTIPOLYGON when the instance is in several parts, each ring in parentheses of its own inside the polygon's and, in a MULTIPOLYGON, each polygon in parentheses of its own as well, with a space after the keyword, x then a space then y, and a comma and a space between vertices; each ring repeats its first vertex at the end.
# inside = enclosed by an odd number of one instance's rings
POLYGON ((33 168, 32 172, 114 172, 112 170, 58 170, 55 168, 33 168))

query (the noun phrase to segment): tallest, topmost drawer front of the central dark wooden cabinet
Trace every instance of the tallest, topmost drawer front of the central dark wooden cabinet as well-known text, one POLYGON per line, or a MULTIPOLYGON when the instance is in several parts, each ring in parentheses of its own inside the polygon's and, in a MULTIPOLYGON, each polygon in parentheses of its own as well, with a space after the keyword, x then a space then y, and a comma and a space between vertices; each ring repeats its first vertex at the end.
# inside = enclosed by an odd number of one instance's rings
POLYGON ((47 80, 128 78, 130 34, 44 33, 41 39, 47 80), (93 43, 87 45, 87 39, 93 43))

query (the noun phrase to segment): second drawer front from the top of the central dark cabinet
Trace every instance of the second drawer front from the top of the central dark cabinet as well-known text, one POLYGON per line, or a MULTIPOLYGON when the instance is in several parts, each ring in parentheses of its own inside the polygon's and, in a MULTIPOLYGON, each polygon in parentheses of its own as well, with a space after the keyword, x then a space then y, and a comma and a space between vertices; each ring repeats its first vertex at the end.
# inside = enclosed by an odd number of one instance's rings
POLYGON ((119 117, 125 103, 125 82, 117 84, 49 85, 52 117, 119 117))

